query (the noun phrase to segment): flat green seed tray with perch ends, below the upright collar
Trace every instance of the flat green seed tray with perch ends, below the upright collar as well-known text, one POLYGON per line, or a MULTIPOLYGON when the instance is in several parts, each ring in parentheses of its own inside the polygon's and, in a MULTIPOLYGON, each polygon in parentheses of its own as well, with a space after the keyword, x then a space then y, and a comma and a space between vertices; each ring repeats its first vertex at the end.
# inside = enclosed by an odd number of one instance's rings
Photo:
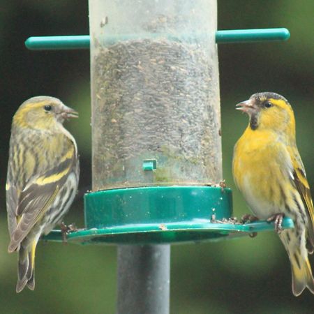
MULTIPOLYGON (((293 228, 290 218, 283 219, 283 228, 293 228)), ((215 241, 243 237, 253 232, 274 230, 274 223, 166 223, 164 225, 129 225, 106 229, 87 229, 70 232, 67 241, 76 244, 175 244, 183 242, 215 241)), ((61 230, 52 230, 44 241, 61 242, 61 230)))

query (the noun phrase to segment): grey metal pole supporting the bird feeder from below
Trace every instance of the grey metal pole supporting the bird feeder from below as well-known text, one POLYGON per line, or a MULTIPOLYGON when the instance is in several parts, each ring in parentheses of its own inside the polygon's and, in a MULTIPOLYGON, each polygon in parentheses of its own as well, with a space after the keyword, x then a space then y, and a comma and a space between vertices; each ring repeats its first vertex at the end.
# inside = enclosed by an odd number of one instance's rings
POLYGON ((170 245, 118 246, 117 314, 169 314, 170 245))

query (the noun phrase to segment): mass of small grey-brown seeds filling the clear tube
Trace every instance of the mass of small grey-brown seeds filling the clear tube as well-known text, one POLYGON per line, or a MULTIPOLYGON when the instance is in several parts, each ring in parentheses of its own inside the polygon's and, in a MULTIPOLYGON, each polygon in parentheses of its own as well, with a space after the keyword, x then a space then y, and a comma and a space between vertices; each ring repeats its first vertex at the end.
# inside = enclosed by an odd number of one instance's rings
POLYGON ((207 46, 167 39, 98 47, 93 69, 98 188, 222 179, 218 69, 207 46), (218 154, 217 154, 218 152, 218 154), (145 172, 142 162, 157 161, 145 172))

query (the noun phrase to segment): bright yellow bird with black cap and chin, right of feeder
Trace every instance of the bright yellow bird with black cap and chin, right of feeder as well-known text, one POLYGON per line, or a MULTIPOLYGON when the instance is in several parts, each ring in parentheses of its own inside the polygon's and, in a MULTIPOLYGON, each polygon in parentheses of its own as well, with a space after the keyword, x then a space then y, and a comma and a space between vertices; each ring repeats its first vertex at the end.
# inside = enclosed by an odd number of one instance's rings
POLYGON ((234 181, 253 214, 274 221, 290 258, 293 294, 299 296, 306 287, 314 294, 308 261, 314 248, 314 209, 292 107, 283 96, 264 92, 253 94, 237 109, 250 121, 234 147, 234 181), (282 230, 283 216, 292 218, 293 229, 282 230))

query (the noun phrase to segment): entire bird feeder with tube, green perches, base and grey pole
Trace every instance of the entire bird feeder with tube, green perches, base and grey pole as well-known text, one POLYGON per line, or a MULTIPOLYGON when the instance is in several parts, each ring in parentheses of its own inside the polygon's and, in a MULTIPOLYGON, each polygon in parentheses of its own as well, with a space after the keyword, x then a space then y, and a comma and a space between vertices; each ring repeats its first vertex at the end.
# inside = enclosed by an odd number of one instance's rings
MULTIPOLYGON (((85 229, 68 241, 119 244, 118 313, 168 313, 166 244, 274 229, 232 220, 216 43, 285 40, 289 32, 217 31, 214 0, 89 0, 89 22, 89 36, 26 42, 91 50, 92 190, 85 229)), ((61 232, 45 239, 61 241, 61 232)))

